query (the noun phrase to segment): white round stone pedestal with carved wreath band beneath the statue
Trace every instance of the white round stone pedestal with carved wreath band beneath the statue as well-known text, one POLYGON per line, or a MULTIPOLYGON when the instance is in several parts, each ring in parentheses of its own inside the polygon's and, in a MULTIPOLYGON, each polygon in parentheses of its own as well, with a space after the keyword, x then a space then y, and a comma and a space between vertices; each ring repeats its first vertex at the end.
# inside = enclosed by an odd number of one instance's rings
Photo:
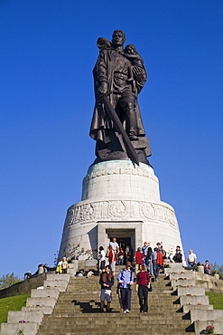
POLYGON ((81 201, 68 209, 59 257, 75 252, 79 259, 95 258, 111 237, 128 238, 134 251, 144 241, 152 247, 163 242, 167 252, 181 246, 174 210, 161 201, 150 166, 112 160, 88 168, 81 201))

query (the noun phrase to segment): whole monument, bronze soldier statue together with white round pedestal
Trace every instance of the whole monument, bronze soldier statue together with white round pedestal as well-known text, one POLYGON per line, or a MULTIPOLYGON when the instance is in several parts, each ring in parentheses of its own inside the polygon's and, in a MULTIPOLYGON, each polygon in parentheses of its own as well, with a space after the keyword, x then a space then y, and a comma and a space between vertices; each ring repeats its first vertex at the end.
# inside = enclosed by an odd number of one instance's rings
POLYGON ((163 242, 166 251, 181 245, 172 206, 161 201, 158 178, 138 104, 144 88, 144 62, 116 30, 112 41, 98 38, 99 55, 93 70, 96 104, 90 137, 96 159, 83 179, 81 201, 66 216, 59 257, 97 258, 100 245, 112 237, 136 250, 147 241, 163 242))

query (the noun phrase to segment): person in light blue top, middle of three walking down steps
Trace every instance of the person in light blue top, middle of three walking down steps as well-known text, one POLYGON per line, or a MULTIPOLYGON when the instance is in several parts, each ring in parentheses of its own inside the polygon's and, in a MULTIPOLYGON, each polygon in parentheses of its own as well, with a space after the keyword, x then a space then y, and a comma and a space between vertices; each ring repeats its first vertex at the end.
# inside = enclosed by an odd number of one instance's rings
POLYGON ((132 287, 134 283, 134 273, 130 270, 131 263, 126 262, 125 269, 117 275, 117 282, 121 290, 122 306, 125 313, 131 310, 132 287))

